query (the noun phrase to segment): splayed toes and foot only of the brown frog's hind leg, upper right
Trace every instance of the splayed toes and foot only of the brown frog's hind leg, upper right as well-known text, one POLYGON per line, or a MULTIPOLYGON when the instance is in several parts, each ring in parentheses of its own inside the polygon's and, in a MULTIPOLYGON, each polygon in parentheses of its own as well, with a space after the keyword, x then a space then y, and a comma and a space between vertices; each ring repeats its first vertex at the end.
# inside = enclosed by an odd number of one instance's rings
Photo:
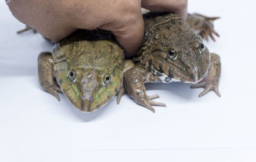
POLYGON ((202 36, 202 38, 208 41, 208 36, 209 36, 213 41, 215 41, 213 34, 220 37, 220 34, 218 34, 214 30, 214 25, 213 25, 214 20, 217 20, 220 17, 206 17, 198 13, 195 13, 195 15, 204 18, 204 24, 202 26, 202 29, 200 29, 200 33, 199 33, 199 35, 202 36))

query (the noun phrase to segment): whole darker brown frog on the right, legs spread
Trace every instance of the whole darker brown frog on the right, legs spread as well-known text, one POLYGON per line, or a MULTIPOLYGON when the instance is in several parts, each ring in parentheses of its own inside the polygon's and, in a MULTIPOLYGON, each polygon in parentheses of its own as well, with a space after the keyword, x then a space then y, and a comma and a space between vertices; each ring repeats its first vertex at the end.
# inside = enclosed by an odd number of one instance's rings
POLYGON ((124 87, 117 103, 127 92, 136 103, 155 112, 158 94, 148 96, 146 83, 184 82, 191 88, 203 87, 199 96, 214 91, 221 96, 218 84, 221 74, 220 56, 209 52, 202 38, 214 40, 213 21, 219 17, 188 14, 186 20, 173 13, 148 12, 144 15, 145 38, 134 57, 134 65, 124 73, 124 87), (197 32, 197 33, 196 33, 197 32))

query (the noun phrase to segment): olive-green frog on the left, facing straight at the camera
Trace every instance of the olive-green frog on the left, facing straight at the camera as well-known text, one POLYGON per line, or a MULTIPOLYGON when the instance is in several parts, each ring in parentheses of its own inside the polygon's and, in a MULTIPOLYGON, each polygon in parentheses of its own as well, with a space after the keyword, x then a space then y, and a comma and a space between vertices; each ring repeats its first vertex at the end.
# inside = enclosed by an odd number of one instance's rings
POLYGON ((123 71, 132 61, 109 31, 77 30, 52 52, 38 55, 40 85, 60 101, 58 92, 81 112, 93 112, 120 90, 123 71))

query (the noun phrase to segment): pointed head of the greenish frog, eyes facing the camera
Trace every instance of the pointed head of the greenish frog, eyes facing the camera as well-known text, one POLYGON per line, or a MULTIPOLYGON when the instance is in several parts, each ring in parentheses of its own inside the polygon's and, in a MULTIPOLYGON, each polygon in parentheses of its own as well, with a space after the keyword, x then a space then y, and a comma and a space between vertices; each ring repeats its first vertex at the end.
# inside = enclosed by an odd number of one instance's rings
POLYGON ((93 112, 110 101, 122 86, 122 70, 83 66, 68 67, 66 61, 54 66, 56 80, 68 100, 82 112, 93 112))

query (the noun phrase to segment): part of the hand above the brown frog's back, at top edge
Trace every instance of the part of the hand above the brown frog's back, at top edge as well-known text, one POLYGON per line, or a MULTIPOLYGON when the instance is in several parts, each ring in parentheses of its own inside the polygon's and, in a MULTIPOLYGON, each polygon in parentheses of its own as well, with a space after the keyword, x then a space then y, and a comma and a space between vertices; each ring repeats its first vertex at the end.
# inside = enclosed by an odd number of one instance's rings
POLYGON ((141 6, 152 11, 177 13, 182 18, 186 18, 188 15, 187 0, 142 0, 141 6))

